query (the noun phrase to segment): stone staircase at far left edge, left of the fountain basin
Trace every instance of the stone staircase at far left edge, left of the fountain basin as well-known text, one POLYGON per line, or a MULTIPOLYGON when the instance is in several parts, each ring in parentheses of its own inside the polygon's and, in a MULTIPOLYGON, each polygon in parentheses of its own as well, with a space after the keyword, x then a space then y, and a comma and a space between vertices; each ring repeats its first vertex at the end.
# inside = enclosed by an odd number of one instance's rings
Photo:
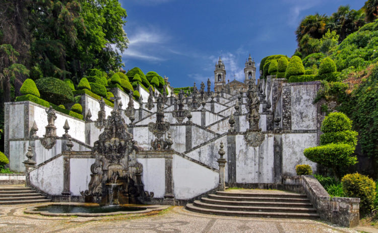
POLYGON ((29 204, 49 201, 51 200, 30 188, 23 186, 0 186, 0 205, 29 204))

